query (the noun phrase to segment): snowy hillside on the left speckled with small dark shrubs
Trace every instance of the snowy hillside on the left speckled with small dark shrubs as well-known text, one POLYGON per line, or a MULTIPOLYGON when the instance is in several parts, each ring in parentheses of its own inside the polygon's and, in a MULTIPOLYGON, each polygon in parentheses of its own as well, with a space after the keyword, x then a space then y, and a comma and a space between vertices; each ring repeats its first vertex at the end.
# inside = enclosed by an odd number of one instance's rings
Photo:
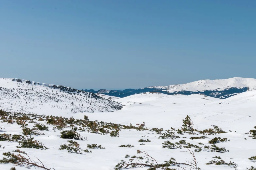
POLYGON ((122 105, 65 86, 16 78, 0 78, 0 109, 10 112, 45 114, 111 112, 122 105))

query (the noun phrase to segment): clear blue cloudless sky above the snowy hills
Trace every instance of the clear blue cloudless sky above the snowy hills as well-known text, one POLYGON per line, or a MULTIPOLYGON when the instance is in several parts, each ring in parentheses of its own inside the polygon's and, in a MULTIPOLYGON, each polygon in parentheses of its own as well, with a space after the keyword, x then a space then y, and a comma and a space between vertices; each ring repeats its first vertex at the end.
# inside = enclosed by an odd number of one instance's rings
POLYGON ((77 89, 256 78, 256 1, 1 0, 0 77, 77 89))

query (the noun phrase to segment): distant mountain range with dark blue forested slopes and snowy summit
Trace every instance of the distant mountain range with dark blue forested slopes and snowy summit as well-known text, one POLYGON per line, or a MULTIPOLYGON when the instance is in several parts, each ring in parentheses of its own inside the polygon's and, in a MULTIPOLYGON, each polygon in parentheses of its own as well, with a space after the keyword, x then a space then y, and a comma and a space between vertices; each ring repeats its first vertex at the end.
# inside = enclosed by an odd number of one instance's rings
POLYGON ((256 89, 256 79, 234 77, 223 80, 199 80, 186 84, 174 84, 169 86, 149 86, 141 89, 106 90, 84 89, 85 92, 99 93, 115 97, 127 97, 133 94, 145 92, 160 92, 164 94, 204 94, 211 97, 225 99, 230 96, 256 89))

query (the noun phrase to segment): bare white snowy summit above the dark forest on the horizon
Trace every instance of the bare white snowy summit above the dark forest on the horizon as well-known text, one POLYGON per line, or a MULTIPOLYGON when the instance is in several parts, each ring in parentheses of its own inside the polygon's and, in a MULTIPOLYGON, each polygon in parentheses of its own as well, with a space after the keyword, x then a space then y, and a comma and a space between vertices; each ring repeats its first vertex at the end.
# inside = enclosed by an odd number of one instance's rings
POLYGON ((186 84, 175 84, 169 86, 150 86, 147 88, 152 89, 163 89, 168 92, 177 91, 206 91, 206 90, 224 90, 229 88, 244 88, 247 87, 248 90, 256 89, 256 79, 254 78, 240 78, 234 77, 223 80, 199 80, 186 84))

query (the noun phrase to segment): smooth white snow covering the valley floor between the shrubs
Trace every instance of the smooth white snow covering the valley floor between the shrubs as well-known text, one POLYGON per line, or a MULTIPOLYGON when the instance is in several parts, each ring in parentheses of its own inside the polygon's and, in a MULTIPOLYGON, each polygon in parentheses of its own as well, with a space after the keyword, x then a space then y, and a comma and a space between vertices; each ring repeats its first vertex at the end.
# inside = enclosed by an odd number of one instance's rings
MULTIPOLYGON (((45 88, 45 87, 42 87, 45 88)), ((52 89, 50 89, 52 91, 52 89)), ((54 89, 53 89, 54 91, 54 89)), ((1 92, 1 90, 0 90, 1 92)), ((2 96, 1 96, 2 97, 2 96)), ((10 98, 11 99, 11 98, 10 98)), ((112 99, 124 105, 121 110, 114 110, 113 112, 94 112, 94 113, 63 113, 49 112, 42 110, 40 114, 44 115, 62 115, 65 117, 73 116, 75 119, 82 119, 87 115, 90 120, 98 120, 111 123, 120 123, 124 125, 136 125, 136 123, 143 123, 147 128, 164 128, 165 130, 173 127, 180 129, 182 127, 182 119, 189 115, 194 123, 194 128, 204 130, 213 128, 211 125, 217 125, 227 133, 207 135, 210 139, 214 137, 228 138, 230 141, 224 143, 217 143, 219 147, 225 147, 229 152, 214 153, 214 152, 195 152, 199 167, 202 170, 228 170, 227 165, 205 165, 208 161, 213 160, 214 156, 220 156, 224 161, 234 161, 238 164, 237 170, 245 170, 256 164, 248 160, 251 156, 256 156, 256 139, 249 137, 247 132, 256 126, 256 90, 243 92, 241 94, 231 96, 227 99, 218 99, 204 95, 166 95, 161 93, 143 93, 128 96, 125 98, 112 99), (232 132, 230 132, 232 131, 232 132), (235 132, 236 131, 236 132, 235 132), (244 140, 247 138, 247 140, 244 140)), ((11 106, 7 101, 3 102, 0 109, 6 106, 11 106)), ((15 107, 15 103, 13 103, 15 107)), ((41 122, 44 123, 44 122, 41 122)), ((28 127, 33 127, 32 123, 28 123, 28 127)), ((136 150, 143 150, 149 153, 152 157, 158 160, 158 163, 163 163, 171 157, 175 157, 179 162, 185 162, 191 156, 184 151, 186 149, 167 149, 162 147, 164 141, 169 140, 172 143, 179 142, 182 137, 191 144, 202 142, 208 144, 210 139, 196 139, 190 140, 191 136, 202 135, 179 135, 180 139, 158 139, 159 135, 151 131, 136 131, 122 130, 120 137, 111 137, 107 135, 99 135, 88 132, 79 132, 83 136, 88 137, 88 141, 77 141, 81 148, 87 149, 87 144, 102 145, 106 149, 89 149, 93 153, 83 153, 82 155, 76 153, 68 153, 66 150, 58 150, 61 144, 66 144, 67 139, 60 138, 60 130, 54 131, 53 126, 49 126, 49 131, 46 136, 33 136, 36 140, 43 142, 49 149, 38 150, 33 148, 21 148, 29 155, 35 155, 47 167, 54 167, 56 170, 113 170, 115 165, 120 160, 128 160, 125 158, 126 154, 130 156, 138 155, 136 150), (142 137, 142 136, 146 137, 142 137), (149 139, 152 142, 139 145, 137 142, 140 139, 149 139), (122 144, 134 145, 132 148, 118 147, 122 144)), ((0 123, 2 129, 0 133, 21 134, 20 125, 0 123)), ((17 142, 1 141, 0 144, 5 148, 0 148, 0 152, 7 152, 16 149, 17 142)), ((194 149, 193 149, 194 150, 194 149)), ((138 155, 139 156, 139 155, 138 155)), ((2 158, 3 156, 0 156, 2 158)), ((216 159, 216 158, 215 158, 216 159)), ((0 169, 9 170, 13 167, 11 164, 0 164, 0 169)), ((26 167, 16 167, 17 170, 25 170, 26 167)), ((171 167, 172 168, 172 167, 171 167)), ((147 168, 138 168, 146 170, 147 168)))

